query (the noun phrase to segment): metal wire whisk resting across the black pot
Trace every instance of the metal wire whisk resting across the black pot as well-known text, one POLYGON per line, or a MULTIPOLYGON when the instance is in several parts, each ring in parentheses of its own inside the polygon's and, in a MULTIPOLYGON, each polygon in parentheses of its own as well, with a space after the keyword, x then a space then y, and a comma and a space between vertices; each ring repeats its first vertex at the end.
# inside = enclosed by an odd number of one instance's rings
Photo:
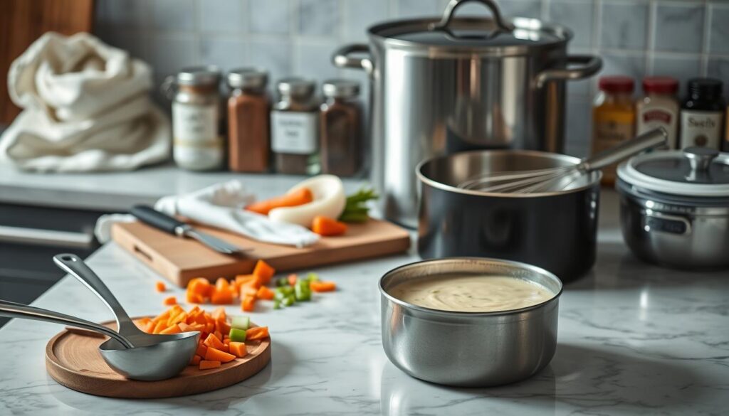
POLYGON ((566 189, 574 181, 577 181, 594 170, 602 169, 615 162, 625 160, 636 153, 665 144, 667 137, 668 133, 666 133, 666 130, 663 127, 658 127, 615 147, 611 147, 604 152, 588 157, 577 165, 536 170, 483 173, 468 178, 466 181, 461 182, 458 187, 461 189, 504 194, 559 191, 566 189))

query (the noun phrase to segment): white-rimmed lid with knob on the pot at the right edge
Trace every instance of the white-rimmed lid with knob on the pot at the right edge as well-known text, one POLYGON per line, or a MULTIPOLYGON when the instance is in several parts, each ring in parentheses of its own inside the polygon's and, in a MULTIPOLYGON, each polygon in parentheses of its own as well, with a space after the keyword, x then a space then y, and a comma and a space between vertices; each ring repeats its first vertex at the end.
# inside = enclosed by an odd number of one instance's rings
POLYGON ((679 197, 729 197, 729 154, 706 147, 632 157, 617 176, 634 187, 679 197))

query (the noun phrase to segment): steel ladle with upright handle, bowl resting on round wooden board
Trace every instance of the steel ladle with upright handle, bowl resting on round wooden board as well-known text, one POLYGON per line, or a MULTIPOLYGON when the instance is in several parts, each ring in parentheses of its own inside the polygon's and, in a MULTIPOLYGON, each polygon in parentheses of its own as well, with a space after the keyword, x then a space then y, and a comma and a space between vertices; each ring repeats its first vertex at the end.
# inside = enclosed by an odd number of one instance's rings
POLYGON ((101 356, 115 372, 133 380, 165 380, 190 364, 198 348, 200 332, 147 334, 137 328, 109 288, 79 256, 58 254, 53 256, 53 261, 104 301, 114 313, 119 335, 132 345, 126 348, 116 337, 99 345, 101 356))

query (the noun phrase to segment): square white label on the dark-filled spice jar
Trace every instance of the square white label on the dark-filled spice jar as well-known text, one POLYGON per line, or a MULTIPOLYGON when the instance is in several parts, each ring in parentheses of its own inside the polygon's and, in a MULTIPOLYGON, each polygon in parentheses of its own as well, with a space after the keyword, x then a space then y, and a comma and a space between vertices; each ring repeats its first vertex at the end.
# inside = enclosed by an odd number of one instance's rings
POLYGON ((319 136, 318 113, 271 112, 271 149, 277 153, 312 154, 319 136))

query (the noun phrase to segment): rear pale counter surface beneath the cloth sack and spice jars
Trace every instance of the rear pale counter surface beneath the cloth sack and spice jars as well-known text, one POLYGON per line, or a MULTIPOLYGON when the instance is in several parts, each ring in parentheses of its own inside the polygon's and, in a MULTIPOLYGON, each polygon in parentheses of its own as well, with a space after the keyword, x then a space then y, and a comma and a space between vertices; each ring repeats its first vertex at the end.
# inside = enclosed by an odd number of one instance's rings
MULTIPOLYGON (((0 163, 0 203, 45 205, 95 211, 128 211, 165 195, 183 194, 217 182, 242 179, 261 197, 280 195, 305 176, 233 172, 191 172, 157 165, 131 172, 31 173, 0 163)), ((348 179, 347 184, 363 181, 348 179)))

